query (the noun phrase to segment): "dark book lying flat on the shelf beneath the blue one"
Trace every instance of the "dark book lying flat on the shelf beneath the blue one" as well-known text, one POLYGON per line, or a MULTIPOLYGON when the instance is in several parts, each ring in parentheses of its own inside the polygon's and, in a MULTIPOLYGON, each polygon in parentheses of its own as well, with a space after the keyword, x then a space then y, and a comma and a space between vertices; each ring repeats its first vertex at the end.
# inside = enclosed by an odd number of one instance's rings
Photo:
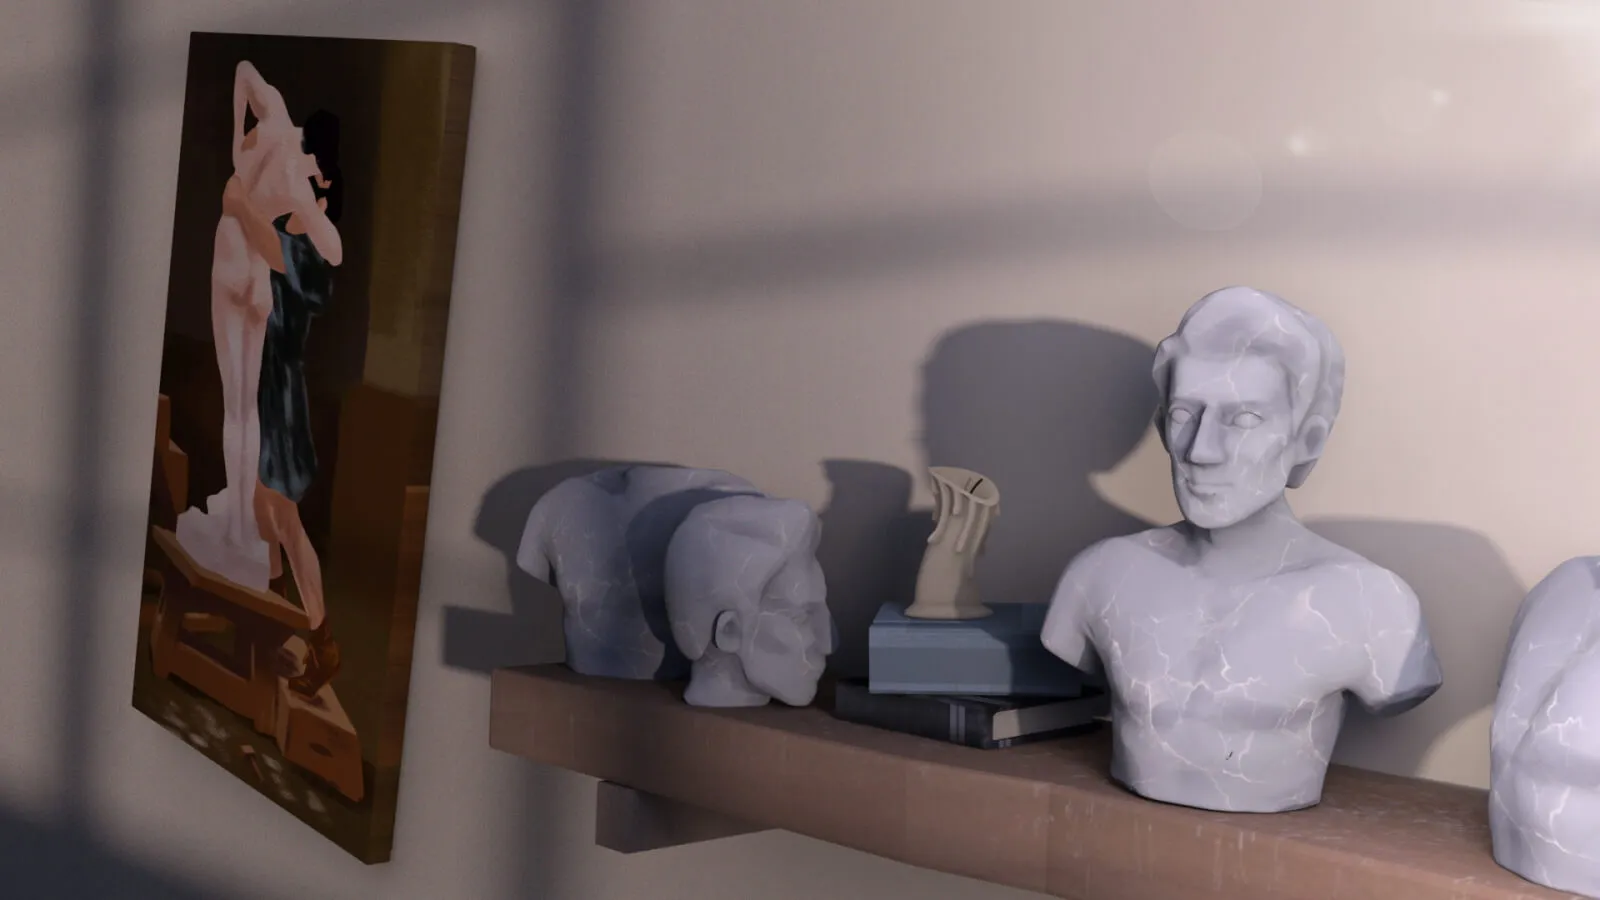
POLYGON ((1110 705, 1085 685, 1080 697, 957 697, 938 693, 872 693, 866 679, 834 687, 834 717, 978 749, 1091 732, 1110 705))

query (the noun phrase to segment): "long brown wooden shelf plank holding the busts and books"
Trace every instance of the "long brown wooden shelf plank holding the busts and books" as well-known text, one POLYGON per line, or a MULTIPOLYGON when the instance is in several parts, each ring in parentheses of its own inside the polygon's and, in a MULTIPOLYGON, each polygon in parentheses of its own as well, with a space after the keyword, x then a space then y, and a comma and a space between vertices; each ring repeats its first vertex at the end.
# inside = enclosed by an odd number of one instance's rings
POLYGON ((1072 900, 1571 897, 1494 865, 1472 788, 1336 765, 1315 809, 1216 814, 1109 783, 1104 732, 981 751, 680 690, 499 669, 490 745, 747 823, 722 833, 781 828, 1072 900))

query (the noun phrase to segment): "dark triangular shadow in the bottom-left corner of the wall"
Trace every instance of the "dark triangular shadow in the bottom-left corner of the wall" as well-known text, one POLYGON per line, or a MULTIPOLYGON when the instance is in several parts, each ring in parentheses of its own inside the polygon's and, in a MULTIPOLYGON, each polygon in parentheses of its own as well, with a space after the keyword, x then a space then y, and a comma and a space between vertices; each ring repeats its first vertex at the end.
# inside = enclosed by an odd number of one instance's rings
POLYGON ((61 900, 221 900, 182 879, 139 866, 78 828, 27 822, 0 809, 0 895, 61 900))

